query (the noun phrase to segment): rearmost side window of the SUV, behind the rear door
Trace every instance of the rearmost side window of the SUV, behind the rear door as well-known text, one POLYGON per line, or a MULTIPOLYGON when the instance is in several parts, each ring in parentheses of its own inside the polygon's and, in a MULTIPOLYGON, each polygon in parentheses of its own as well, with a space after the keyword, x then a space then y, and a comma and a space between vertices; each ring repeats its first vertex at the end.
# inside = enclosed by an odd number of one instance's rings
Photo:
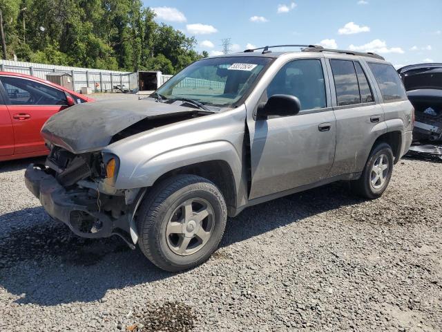
POLYGON ((379 89, 381 89, 384 101, 389 100, 402 100, 407 98, 405 89, 403 87, 401 78, 396 70, 390 64, 368 64, 376 81, 378 82, 379 89))

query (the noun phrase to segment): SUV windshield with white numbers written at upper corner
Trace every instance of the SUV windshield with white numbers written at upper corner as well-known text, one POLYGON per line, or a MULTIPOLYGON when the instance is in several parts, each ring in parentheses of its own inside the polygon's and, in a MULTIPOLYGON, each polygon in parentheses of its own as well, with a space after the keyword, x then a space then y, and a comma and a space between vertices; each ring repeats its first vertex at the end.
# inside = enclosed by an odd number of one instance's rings
POLYGON ((204 105, 231 107, 246 96, 267 57, 218 57, 194 62, 156 91, 168 100, 186 98, 204 105))

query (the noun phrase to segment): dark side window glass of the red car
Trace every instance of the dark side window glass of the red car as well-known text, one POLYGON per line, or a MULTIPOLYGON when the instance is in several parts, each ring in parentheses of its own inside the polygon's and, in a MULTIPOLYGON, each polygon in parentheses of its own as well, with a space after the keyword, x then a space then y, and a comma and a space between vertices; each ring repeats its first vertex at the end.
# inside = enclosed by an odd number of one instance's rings
POLYGON ((12 105, 66 105, 66 95, 45 84, 17 77, 0 77, 12 105))

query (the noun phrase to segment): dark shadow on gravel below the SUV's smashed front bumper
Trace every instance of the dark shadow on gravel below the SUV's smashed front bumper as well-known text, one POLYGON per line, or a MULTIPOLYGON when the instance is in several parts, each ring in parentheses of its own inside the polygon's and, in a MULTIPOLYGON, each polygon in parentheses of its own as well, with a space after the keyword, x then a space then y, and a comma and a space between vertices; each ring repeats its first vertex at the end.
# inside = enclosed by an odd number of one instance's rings
MULTIPOLYGON (((0 220, 44 214, 30 208, 0 220)), ((37 221, 37 219, 36 219, 37 221)), ((37 221, 38 222, 38 221, 37 221)), ((0 236, 0 288, 19 304, 55 306, 105 301, 106 292, 171 277, 119 237, 83 239, 63 223, 42 221, 0 236)))

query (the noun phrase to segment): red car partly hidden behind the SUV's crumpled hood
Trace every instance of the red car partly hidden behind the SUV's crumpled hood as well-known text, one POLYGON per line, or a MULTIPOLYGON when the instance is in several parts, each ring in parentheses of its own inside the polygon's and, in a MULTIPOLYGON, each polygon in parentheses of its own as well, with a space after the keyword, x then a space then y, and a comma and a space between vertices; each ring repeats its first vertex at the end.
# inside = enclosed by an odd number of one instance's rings
POLYGON ((44 156, 40 129, 53 114, 92 98, 40 78, 0 71, 0 161, 44 156))

